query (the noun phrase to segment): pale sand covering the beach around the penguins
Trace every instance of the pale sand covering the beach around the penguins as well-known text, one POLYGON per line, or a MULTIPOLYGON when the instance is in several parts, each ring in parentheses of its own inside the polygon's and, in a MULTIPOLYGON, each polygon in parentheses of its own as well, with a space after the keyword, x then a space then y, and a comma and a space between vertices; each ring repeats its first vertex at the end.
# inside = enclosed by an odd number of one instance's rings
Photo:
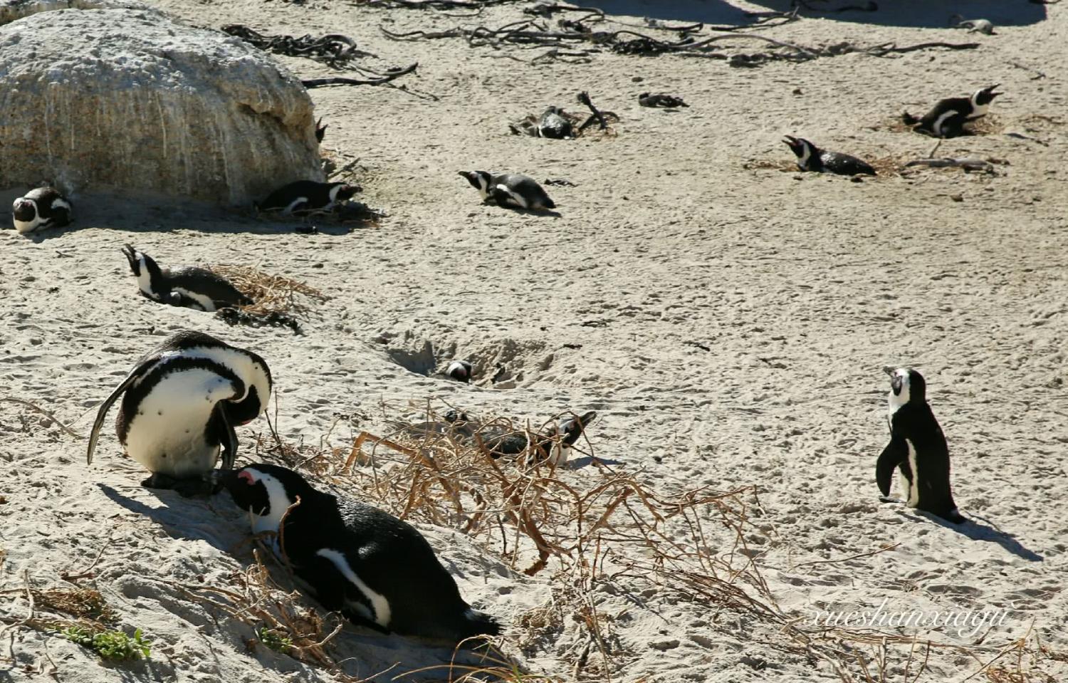
MULTIPOLYGON (((312 91, 330 124, 325 149, 360 158, 360 199, 389 214, 378 228, 301 236, 292 223, 85 196, 75 198, 76 229, 36 239, 0 234, 2 395, 32 401, 88 433, 95 405, 142 352, 194 328, 268 360, 279 431, 295 441, 317 444, 331 428, 339 447, 362 429, 384 433, 404 414, 383 410, 382 401, 444 400, 535 424, 565 409, 596 409, 596 454, 665 499, 700 485, 759 486, 761 508, 751 509, 745 540, 786 614, 871 609, 884 597, 894 612, 1008 609, 1001 625, 978 635, 882 631, 918 638, 909 681, 928 640, 971 648, 978 659, 937 647, 918 680, 962 681, 1024 637, 1022 666, 1032 678, 1011 680, 1068 680, 1068 20, 1061 6, 1046 7, 1045 21, 1011 27, 1001 26, 999 3, 960 3, 994 20, 993 36, 901 28, 889 7, 870 15, 881 24, 863 24, 868 17, 858 13, 804 18, 759 32, 806 45, 976 41, 981 48, 745 69, 608 53, 588 64, 531 66, 507 57, 543 50, 393 43, 378 31, 502 26, 521 18, 519 6, 457 18, 332 0, 159 4, 202 26, 350 35, 381 58, 371 64, 420 62, 417 76, 397 82, 438 99, 387 88, 312 91), (637 76, 643 82, 632 82, 637 76), (1007 159, 998 176, 924 170, 854 184, 743 169, 749 160, 789 159, 783 134, 869 159, 926 156, 932 140, 886 123, 901 109, 918 113, 941 96, 993 82, 1006 93, 993 107, 1000 128, 1041 142, 968 137, 944 141, 939 155, 1007 159), (578 111, 579 90, 622 117, 617 137, 507 135, 508 121, 549 104, 578 111), (640 108, 645 90, 681 95, 692 107, 640 108), (576 187, 547 188, 561 217, 521 215, 481 205, 456 175, 472 168, 576 187), (126 242, 164 264, 258 264, 332 298, 303 337, 227 327, 141 298, 119 252, 126 242), (474 361, 475 384, 421 376, 391 360, 426 341, 441 361, 474 361), (489 382, 498 362, 515 388, 489 382), (889 363, 914 364, 927 377, 949 441, 956 499, 973 519, 962 529, 878 501, 875 461, 888 438, 880 368, 889 363), (843 559, 889 544, 897 545, 843 559), (1035 662, 1038 643, 1049 651, 1035 662)), ((1022 13, 1042 11, 1019 4, 1022 13)), ((700 7, 721 22, 737 17, 718 3, 700 7)), ((304 78, 330 74, 308 60, 281 61, 304 78)), ((0 206, 15 195, 0 195, 0 206)), ((255 460, 255 435, 267 430, 263 418, 240 430, 239 462, 255 460)), ((0 403, 0 431, 2 614, 28 614, 18 592, 23 573, 35 588, 63 587, 61 573, 92 565, 93 576, 78 585, 99 589, 124 625, 155 641, 150 662, 110 666, 62 637, 12 627, 0 639, 6 680, 46 680, 53 666, 59 681, 93 683, 333 676, 263 647, 250 653, 251 628, 180 588, 239 589, 248 528, 225 495, 186 500, 141 488, 144 472, 120 455, 110 428, 92 467, 83 440, 22 406, 0 403)), ((601 476, 595 467, 563 475, 576 485, 601 476)), ((714 534, 707 552, 723 559, 734 532, 711 511, 703 514, 714 534)), ((505 650, 531 671, 574 680, 588 641, 577 622, 567 618, 543 634, 519 625, 552 600, 555 560, 527 578, 492 546, 422 528, 453 563, 467 599, 509 624, 505 650)), ((738 556, 733 561, 742 565, 738 556)), ((600 577, 591 593, 612 623, 614 681, 866 680, 855 661, 836 673, 806 656, 772 621, 682 600, 670 587, 631 590, 644 587, 600 577)), ((449 657, 355 628, 335 646, 350 676, 399 662, 379 681, 449 657)), ((814 646, 847 647, 868 661, 878 652, 857 642, 814 646)), ((597 657, 590 655, 580 679, 604 678, 597 657)), ((885 680, 907 680, 908 659, 908 645, 891 646, 885 680)), ((1012 654, 994 666, 1015 671, 1017 662, 1012 654)), ((1010 679, 984 672, 971 680, 1010 679)))

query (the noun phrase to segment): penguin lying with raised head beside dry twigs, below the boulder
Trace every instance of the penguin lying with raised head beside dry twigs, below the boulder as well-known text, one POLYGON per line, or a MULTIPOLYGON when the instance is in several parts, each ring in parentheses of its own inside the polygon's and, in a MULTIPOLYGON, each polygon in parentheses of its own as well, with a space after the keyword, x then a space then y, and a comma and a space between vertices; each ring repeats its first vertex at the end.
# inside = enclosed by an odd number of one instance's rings
POLYGON ((130 245, 124 245, 122 252, 137 278, 141 295, 153 301, 207 312, 253 304, 230 280, 205 268, 160 268, 152 257, 130 245))

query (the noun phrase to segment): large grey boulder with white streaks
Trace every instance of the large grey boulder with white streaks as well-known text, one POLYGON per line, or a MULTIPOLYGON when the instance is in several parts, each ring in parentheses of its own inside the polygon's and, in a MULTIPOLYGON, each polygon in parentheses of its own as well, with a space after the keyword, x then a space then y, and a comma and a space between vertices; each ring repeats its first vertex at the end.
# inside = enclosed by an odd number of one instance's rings
POLYGON ((312 113, 267 55, 154 10, 0 26, 0 189, 50 180, 249 204, 323 180, 312 113))

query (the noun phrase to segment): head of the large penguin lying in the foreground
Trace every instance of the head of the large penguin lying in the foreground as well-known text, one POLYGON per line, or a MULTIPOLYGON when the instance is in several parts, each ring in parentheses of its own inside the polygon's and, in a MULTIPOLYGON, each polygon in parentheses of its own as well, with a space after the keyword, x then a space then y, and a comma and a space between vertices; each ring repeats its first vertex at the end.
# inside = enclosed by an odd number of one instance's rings
POLYGON ((315 490, 303 477, 286 467, 256 463, 236 471, 218 471, 216 478, 230 492, 241 510, 260 517, 253 522, 256 531, 277 531, 289 506, 311 500, 315 490))

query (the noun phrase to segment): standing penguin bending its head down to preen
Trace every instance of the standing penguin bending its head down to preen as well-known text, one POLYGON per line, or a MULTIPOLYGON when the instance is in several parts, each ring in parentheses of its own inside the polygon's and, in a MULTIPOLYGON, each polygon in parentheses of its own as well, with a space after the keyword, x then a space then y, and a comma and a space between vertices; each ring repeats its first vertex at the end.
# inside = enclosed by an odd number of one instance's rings
POLYGON ((271 384, 270 369, 256 354, 203 332, 173 335, 142 356, 100 404, 85 463, 92 464, 104 419, 122 397, 115 434, 126 453, 152 472, 141 485, 187 497, 210 493, 208 475, 220 449, 223 469, 233 469, 234 425, 266 409, 271 384))

